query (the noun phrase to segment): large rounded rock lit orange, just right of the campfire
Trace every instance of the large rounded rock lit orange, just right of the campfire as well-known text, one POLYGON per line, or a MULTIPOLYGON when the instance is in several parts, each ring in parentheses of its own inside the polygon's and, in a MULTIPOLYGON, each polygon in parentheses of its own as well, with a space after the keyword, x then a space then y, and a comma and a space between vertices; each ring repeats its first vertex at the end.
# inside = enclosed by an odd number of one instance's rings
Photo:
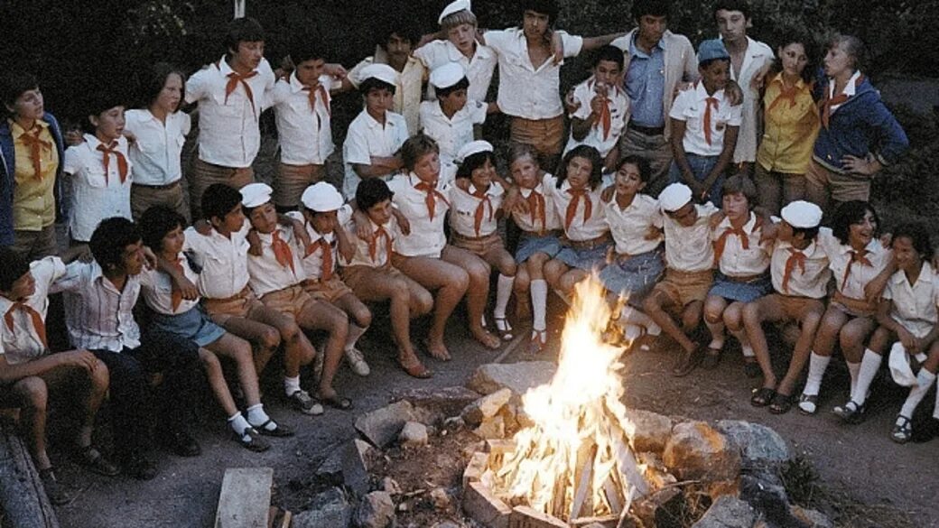
POLYGON ((740 474, 739 450, 704 422, 673 427, 662 462, 681 480, 733 480, 740 474))

